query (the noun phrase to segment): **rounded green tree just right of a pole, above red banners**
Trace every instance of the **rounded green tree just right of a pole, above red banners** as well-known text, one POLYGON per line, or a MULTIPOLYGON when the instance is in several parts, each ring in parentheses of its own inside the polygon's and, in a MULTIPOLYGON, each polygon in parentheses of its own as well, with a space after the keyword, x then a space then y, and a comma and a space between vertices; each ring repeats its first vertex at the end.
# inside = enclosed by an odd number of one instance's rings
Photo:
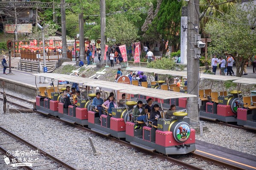
POLYGON ((137 28, 123 14, 108 17, 105 35, 109 45, 130 44, 138 38, 137 33, 137 28))

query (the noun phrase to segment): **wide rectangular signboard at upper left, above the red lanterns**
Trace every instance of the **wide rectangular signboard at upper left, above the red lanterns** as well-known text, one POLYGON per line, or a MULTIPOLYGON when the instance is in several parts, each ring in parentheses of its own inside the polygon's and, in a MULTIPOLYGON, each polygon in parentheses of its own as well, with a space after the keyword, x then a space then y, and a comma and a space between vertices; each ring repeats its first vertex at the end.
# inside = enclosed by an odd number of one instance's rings
MULTIPOLYGON (((14 33, 15 24, 6 24, 5 32, 14 33)), ((17 33, 32 33, 32 24, 17 24, 17 33)))

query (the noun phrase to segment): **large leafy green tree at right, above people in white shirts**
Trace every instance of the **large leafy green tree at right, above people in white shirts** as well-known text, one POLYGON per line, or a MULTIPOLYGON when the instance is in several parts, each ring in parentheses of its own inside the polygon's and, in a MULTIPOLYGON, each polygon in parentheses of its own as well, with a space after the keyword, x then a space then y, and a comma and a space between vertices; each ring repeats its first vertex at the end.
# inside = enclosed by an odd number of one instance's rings
POLYGON ((244 64, 256 53, 255 18, 253 3, 236 4, 223 16, 209 21, 205 28, 212 39, 208 52, 233 54, 239 77, 243 74, 244 64))

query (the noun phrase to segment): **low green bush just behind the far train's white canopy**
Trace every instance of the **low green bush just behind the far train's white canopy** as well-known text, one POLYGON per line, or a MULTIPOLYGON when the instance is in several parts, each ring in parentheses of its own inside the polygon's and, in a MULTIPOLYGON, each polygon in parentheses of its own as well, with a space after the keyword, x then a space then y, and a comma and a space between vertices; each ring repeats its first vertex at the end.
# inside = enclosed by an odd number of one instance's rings
POLYGON ((147 68, 159 68, 164 70, 175 69, 175 61, 169 58, 161 58, 147 64, 147 68))

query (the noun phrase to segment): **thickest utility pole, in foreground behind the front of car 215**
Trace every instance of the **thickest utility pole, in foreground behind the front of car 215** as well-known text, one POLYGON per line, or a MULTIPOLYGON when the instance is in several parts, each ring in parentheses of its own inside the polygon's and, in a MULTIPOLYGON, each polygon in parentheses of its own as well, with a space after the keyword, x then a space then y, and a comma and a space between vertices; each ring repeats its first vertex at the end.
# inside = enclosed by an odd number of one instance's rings
MULTIPOLYGON (((199 33, 199 0, 188 1, 188 45, 187 45, 187 77, 188 93, 198 96, 199 88, 199 58, 196 50, 195 35, 199 33)), ((197 126, 199 121, 198 97, 189 97, 187 112, 190 117, 190 125, 197 126)))

